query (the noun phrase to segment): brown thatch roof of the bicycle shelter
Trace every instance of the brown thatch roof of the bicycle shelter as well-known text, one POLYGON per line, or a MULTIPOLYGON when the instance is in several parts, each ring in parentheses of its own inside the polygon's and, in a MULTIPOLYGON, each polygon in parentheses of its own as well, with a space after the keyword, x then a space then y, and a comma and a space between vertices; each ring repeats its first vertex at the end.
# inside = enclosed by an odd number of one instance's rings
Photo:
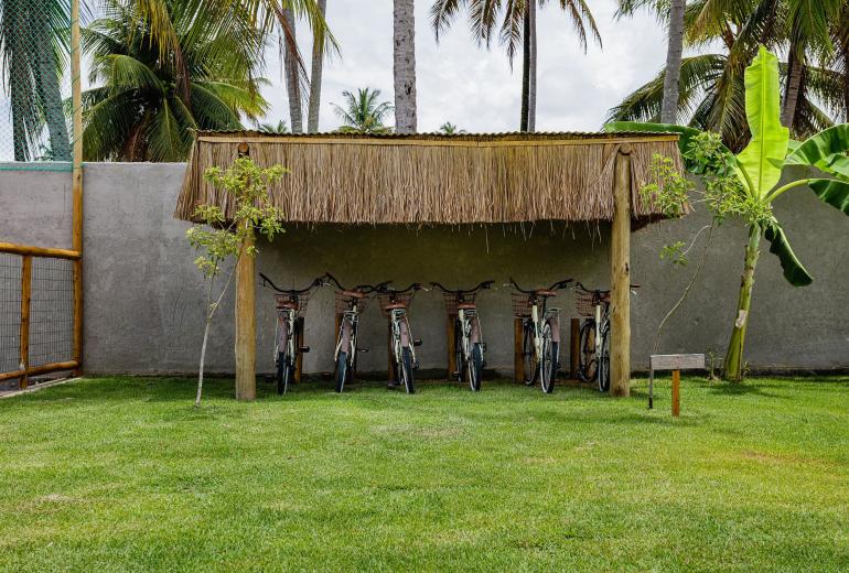
POLYGON ((225 215, 233 204, 203 179, 227 166, 247 143, 264 166, 290 173, 270 190, 287 221, 464 224, 611 220, 616 151, 632 158, 634 219, 659 217, 638 190, 652 156, 680 162, 678 137, 666 133, 498 133, 463 136, 275 136, 200 132, 175 216, 200 204, 225 215))

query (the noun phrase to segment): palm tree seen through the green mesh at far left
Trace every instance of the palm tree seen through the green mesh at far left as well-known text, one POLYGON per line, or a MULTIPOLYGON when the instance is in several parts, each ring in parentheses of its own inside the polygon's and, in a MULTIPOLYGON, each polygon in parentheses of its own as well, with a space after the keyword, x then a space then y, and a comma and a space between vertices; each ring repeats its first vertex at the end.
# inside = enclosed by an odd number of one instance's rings
POLYGON ((0 1, 0 50, 12 110, 15 161, 71 161, 60 78, 68 55, 67 0, 0 1), (46 123, 50 148, 40 152, 46 123))

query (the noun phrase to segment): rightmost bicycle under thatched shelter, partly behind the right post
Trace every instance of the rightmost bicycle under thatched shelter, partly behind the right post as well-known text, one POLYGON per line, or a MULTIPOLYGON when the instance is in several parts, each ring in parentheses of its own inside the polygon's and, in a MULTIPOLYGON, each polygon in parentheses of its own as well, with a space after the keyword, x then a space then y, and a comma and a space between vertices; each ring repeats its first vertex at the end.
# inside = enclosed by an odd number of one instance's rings
MULTIPOLYGON (((632 284, 638 289, 638 284, 632 284)), ((578 378, 597 382, 600 392, 610 390, 610 291, 574 285, 574 306, 583 316, 579 335, 578 378)))

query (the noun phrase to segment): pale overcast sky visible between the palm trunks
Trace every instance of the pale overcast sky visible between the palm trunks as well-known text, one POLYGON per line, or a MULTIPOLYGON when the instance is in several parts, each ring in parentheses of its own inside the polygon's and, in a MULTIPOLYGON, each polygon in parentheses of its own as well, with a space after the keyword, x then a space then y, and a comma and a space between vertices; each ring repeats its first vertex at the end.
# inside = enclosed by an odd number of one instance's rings
MULTIPOLYGON (((431 3, 416 2, 419 131, 437 130, 445 121, 475 132, 517 130, 520 60, 511 72, 499 44, 490 51, 479 47, 465 13, 437 44, 428 18, 431 3)), ((588 3, 603 47, 591 45, 587 54, 556 2, 538 14, 538 131, 598 130, 608 110, 654 77, 666 60, 666 31, 651 14, 615 21, 615 0, 588 3)), ((345 89, 373 87, 393 100, 393 0, 327 0, 327 22, 342 55, 325 64, 322 130, 338 127, 330 104, 341 102, 345 89)), ((299 24, 299 44, 309 66, 310 31, 299 24)), ((276 54, 269 57, 267 76, 273 82, 265 90, 272 106, 269 119, 288 122, 276 54)))

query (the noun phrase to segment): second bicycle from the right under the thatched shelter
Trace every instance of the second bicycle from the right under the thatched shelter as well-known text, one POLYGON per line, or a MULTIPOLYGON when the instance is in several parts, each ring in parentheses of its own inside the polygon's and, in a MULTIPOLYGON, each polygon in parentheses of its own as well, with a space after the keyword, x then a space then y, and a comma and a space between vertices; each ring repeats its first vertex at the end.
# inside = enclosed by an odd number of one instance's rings
POLYGON ((523 289, 513 279, 505 284, 518 291, 513 293, 513 314, 522 318, 523 381, 533 386, 539 380, 546 393, 555 391, 560 367, 560 309, 549 309, 548 299, 570 282, 572 279, 565 279, 536 290, 523 289))

